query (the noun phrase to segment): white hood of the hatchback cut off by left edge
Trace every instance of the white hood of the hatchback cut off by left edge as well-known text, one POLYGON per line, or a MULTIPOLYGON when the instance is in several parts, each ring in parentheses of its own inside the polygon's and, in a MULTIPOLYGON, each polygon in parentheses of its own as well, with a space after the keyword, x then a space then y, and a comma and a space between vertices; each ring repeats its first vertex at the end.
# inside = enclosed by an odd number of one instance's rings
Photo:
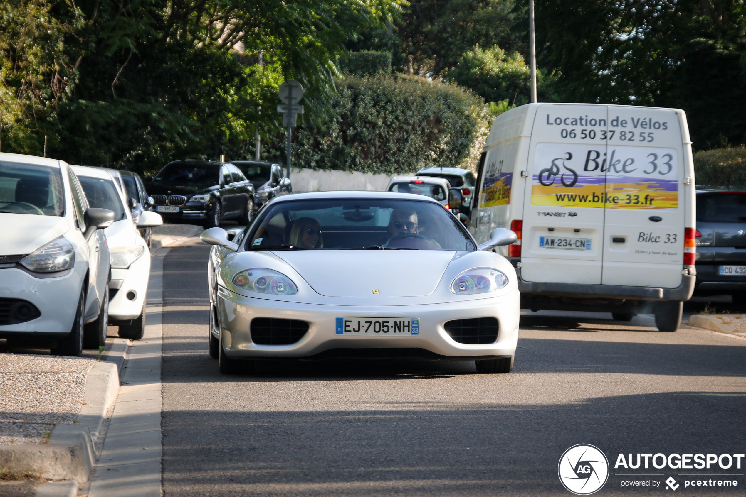
POLYGON ((0 256, 28 254, 48 241, 65 234, 67 218, 34 214, 0 214, 0 225, 5 235, 0 241, 0 256))

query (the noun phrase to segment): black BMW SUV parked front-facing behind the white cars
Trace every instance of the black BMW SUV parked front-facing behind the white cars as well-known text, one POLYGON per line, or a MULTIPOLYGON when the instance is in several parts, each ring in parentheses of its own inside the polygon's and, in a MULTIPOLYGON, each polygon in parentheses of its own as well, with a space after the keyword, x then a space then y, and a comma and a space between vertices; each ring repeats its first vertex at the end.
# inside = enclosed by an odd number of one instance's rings
POLYGON ((163 221, 216 227, 224 219, 248 225, 254 186, 232 164, 200 160, 169 162, 147 184, 163 221))

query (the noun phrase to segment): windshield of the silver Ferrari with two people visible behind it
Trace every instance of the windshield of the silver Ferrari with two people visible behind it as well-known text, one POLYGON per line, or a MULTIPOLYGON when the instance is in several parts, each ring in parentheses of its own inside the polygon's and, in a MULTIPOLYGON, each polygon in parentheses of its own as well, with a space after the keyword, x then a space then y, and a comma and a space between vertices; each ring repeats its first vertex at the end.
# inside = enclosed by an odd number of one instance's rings
POLYGON ((476 250, 466 230, 437 203, 324 199, 269 206, 246 250, 476 250))

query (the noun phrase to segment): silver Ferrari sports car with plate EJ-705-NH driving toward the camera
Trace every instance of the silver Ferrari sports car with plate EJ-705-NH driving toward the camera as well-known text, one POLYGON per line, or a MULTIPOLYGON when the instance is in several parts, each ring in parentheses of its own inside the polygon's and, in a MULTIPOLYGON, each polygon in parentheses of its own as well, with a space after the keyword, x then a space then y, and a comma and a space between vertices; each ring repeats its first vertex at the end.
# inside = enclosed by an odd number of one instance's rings
POLYGON ((515 270, 477 246, 436 200, 374 191, 272 200, 210 253, 210 355, 222 373, 302 358, 474 360, 509 373, 518 340, 515 270))

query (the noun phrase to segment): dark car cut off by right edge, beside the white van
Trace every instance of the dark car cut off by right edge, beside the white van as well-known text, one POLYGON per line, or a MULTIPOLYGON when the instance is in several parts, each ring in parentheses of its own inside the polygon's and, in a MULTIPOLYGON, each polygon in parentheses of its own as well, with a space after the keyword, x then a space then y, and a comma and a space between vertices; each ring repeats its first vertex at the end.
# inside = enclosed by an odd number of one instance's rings
POLYGON ((746 304, 746 191, 697 191, 696 295, 746 304))

